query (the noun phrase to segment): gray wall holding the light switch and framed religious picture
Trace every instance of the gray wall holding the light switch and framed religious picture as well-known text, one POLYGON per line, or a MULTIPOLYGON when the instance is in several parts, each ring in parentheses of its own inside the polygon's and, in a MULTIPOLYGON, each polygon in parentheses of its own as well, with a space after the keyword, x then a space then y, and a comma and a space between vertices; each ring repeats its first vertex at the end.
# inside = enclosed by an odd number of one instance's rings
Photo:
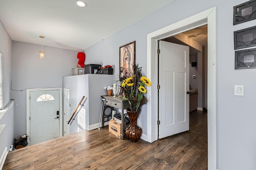
MULTIPOLYGON (((119 47, 136 41, 136 63, 146 73, 148 33, 216 6, 217 168, 220 170, 256 169, 256 69, 234 70, 233 32, 255 25, 255 20, 233 25, 233 6, 243 2, 176 0, 85 51, 88 63, 103 61, 103 64, 118 67, 119 47), (235 84, 244 85, 245 96, 234 96, 235 84)), ((118 69, 114 70, 114 74, 118 74, 118 69)), ((145 135, 146 113, 146 107, 143 107, 138 119, 145 135)))

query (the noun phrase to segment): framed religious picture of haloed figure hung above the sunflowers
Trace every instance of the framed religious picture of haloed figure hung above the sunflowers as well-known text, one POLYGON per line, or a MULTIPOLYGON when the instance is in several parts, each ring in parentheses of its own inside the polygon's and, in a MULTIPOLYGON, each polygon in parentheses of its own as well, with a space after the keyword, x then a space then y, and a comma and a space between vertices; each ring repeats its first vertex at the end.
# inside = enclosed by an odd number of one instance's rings
POLYGON ((130 77, 134 74, 135 41, 119 47, 119 76, 130 77))

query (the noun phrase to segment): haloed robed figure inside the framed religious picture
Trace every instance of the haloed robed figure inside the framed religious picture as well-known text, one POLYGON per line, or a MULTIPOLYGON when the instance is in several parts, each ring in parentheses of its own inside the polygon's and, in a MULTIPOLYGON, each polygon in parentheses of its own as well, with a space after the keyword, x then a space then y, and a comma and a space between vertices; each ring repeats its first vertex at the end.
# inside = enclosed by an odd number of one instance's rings
POLYGON ((130 77, 132 75, 132 64, 131 58, 132 56, 132 49, 130 45, 124 47, 124 51, 122 54, 122 62, 123 62, 123 77, 130 77))

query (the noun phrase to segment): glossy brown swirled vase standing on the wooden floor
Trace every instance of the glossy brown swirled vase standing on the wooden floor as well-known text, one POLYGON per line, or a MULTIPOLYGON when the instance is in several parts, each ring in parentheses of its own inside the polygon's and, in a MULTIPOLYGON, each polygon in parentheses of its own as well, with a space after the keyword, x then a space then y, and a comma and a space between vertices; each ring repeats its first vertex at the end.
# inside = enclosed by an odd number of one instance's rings
POLYGON ((125 134, 129 141, 137 142, 142 134, 142 129, 137 125, 137 119, 140 111, 126 111, 130 119, 130 125, 127 127, 125 134))

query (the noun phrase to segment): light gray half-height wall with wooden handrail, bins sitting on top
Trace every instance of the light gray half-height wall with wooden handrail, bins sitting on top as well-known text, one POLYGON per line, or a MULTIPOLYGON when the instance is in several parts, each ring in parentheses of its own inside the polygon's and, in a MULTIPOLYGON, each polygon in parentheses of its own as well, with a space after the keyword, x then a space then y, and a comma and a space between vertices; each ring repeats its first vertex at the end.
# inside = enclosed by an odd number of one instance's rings
MULTIPOLYGON (((64 77, 63 88, 70 90, 70 101, 72 101, 72 109, 70 110, 69 117, 72 116, 82 97, 85 96, 83 100, 84 106, 82 107, 86 113, 85 129, 96 129, 98 127, 102 106, 100 96, 106 95, 104 87, 112 86, 113 83, 113 76, 105 74, 83 74, 64 77)), ((78 132, 79 117, 77 112, 78 111, 76 111, 75 119, 70 122, 70 134, 78 132)), ((104 125, 108 125, 108 122, 104 125)))

